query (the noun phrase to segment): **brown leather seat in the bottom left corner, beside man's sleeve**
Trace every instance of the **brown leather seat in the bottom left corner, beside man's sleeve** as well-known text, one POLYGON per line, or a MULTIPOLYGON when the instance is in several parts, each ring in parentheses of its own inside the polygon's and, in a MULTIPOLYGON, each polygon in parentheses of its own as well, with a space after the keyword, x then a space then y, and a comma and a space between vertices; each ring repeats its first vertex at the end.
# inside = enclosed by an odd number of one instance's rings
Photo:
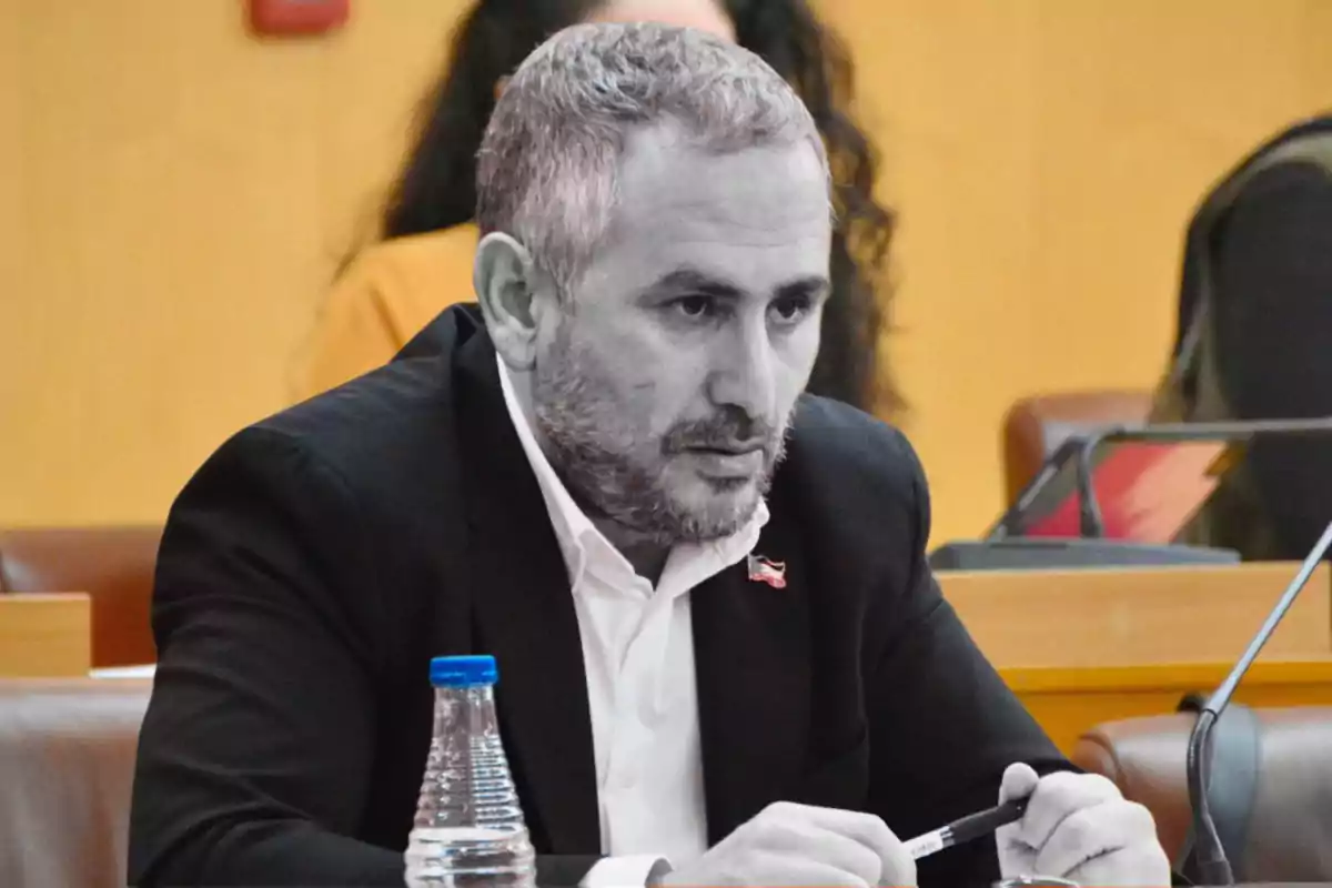
POLYGON ((125 884, 151 680, 0 680, 0 885, 125 884))

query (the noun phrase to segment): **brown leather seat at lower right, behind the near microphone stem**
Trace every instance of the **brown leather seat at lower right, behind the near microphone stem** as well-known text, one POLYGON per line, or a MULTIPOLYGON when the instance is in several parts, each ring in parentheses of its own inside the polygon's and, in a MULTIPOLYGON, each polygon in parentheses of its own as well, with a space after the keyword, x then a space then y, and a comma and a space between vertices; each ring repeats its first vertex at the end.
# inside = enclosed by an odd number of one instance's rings
MULTIPOLYGON (((1332 883, 1332 707, 1255 715, 1257 787, 1243 859, 1231 861, 1235 875, 1240 881, 1332 883)), ((1083 735, 1072 756, 1147 805, 1176 861, 1191 823, 1184 759, 1192 727, 1192 715, 1111 722, 1083 735)))

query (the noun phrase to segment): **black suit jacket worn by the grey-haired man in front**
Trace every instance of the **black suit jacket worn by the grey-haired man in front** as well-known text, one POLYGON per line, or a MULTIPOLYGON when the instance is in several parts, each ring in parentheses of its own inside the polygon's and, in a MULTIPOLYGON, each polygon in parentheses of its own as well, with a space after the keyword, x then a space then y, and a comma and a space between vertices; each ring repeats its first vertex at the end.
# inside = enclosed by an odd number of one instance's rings
MULTIPOLYGON (((940 598, 902 438, 805 399, 758 551, 693 596, 707 835, 778 800, 902 837, 1067 767, 940 598)), ((131 880, 398 885, 430 738, 428 663, 490 652, 547 884, 599 853, 578 624, 474 308, 388 367, 228 441, 172 509, 131 880)), ((922 865, 987 884, 992 840, 922 865)))

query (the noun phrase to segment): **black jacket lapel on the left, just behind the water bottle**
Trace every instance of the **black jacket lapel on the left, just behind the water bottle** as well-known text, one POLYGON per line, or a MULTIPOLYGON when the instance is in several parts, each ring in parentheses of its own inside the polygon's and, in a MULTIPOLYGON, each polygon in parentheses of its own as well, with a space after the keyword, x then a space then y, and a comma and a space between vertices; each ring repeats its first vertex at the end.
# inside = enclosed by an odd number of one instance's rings
POLYGON ((550 853, 598 853, 591 716, 578 619, 545 501, 509 419, 494 349, 476 334, 456 359, 468 560, 478 650, 500 667, 505 750, 533 837, 550 853))

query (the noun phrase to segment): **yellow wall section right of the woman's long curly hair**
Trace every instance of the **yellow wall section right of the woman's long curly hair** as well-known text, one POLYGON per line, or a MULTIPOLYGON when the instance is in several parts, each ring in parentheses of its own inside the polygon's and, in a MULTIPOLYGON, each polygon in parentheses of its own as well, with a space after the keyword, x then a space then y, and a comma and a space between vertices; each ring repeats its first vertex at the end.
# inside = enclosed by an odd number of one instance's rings
POLYGON ((1332 107, 1319 0, 827 0, 903 214, 900 333, 935 542, 1002 505, 1016 398, 1147 387, 1208 185, 1332 107), (872 15, 871 9, 882 9, 872 15))

